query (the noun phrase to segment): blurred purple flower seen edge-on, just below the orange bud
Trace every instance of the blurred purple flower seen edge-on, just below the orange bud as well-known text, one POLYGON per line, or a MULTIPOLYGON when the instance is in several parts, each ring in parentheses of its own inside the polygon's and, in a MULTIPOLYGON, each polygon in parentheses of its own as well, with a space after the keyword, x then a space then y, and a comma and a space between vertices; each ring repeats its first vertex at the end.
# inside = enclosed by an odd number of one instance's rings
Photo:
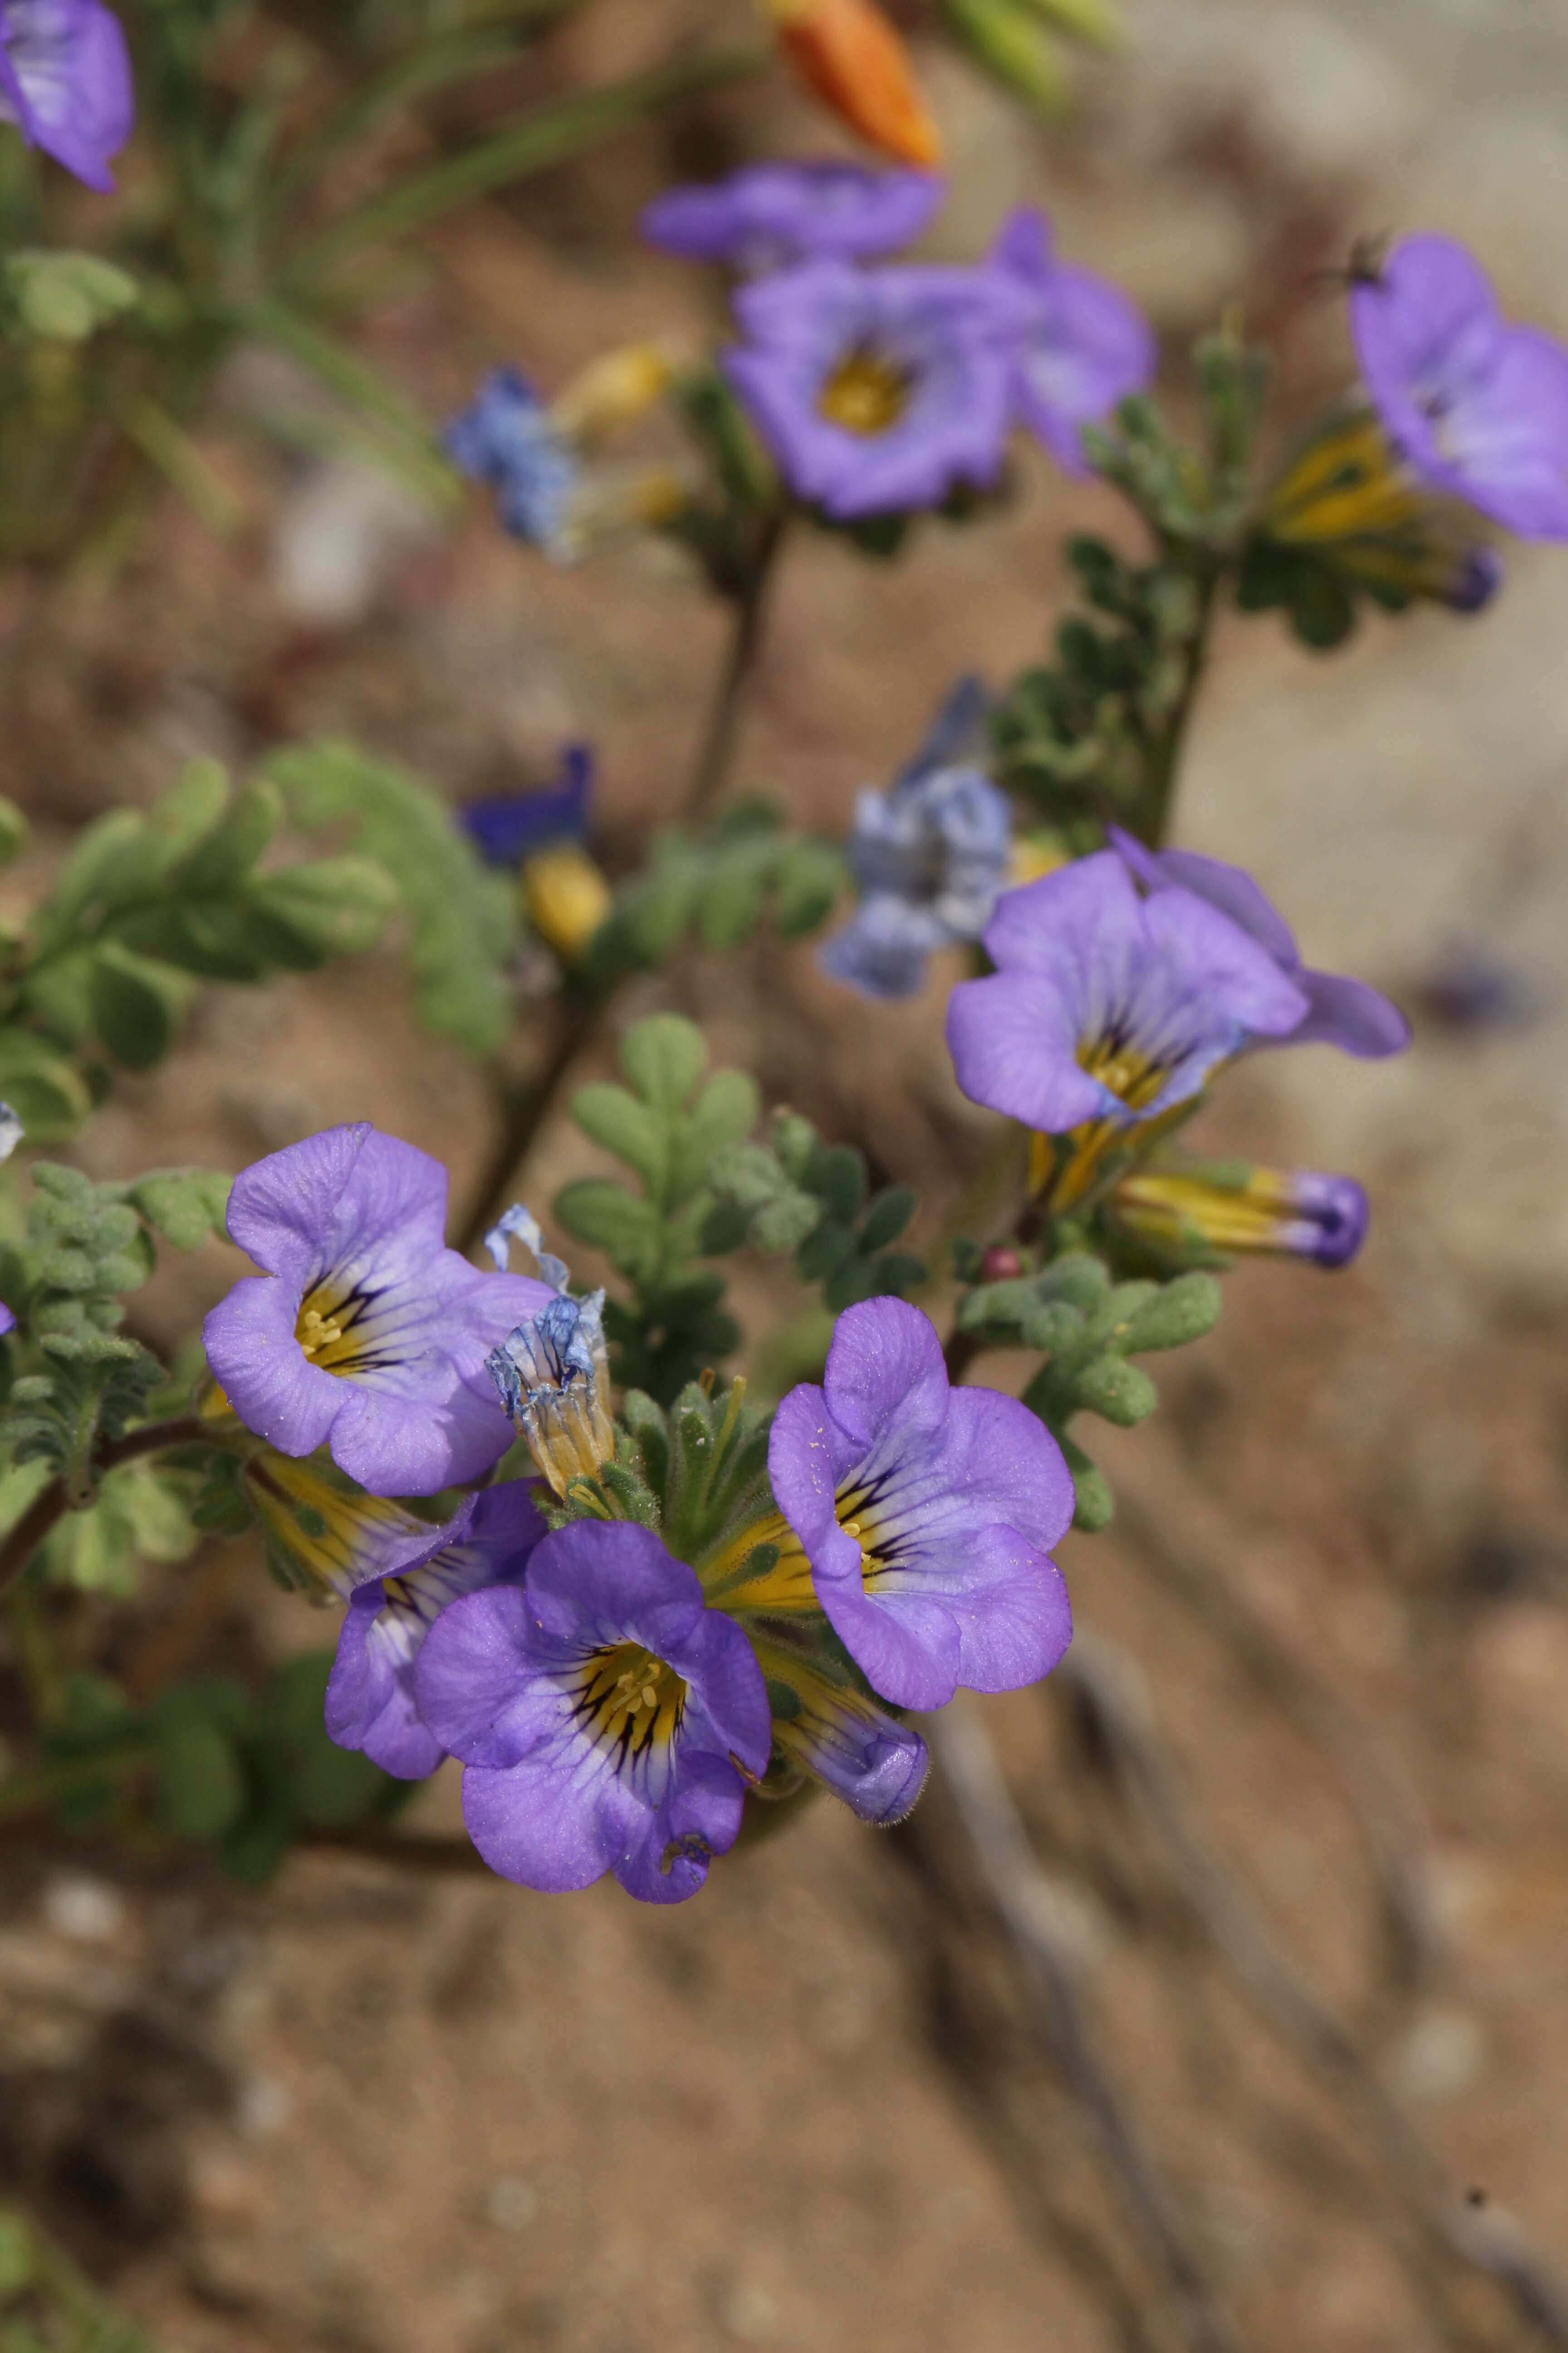
POLYGON ((811 254, 891 254, 922 233, 943 186, 933 172, 759 162, 705 188, 656 195, 639 226, 649 245, 689 261, 731 261, 755 278, 811 254))

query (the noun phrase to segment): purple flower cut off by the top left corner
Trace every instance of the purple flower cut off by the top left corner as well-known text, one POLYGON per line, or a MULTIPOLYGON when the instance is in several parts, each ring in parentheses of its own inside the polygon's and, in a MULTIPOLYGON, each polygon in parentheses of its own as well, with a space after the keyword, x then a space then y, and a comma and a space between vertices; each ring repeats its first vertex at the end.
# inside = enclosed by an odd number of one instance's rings
POLYGON ((0 122, 14 122, 89 188, 115 186, 108 158, 132 134, 136 99, 120 19, 99 0, 0 0, 0 122))

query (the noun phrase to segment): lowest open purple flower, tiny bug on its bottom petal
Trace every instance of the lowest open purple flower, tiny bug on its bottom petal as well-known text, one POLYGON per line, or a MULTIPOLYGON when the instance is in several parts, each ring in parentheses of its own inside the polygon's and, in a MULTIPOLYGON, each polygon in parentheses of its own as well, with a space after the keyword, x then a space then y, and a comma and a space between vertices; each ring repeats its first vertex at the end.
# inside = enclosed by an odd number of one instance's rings
POLYGON ((658 1537, 571 1520, 522 1588, 444 1609, 414 1668, 418 1713, 463 1758, 463 1821, 505 1880, 646 1904, 696 1894, 769 1760, 762 1668, 658 1537))

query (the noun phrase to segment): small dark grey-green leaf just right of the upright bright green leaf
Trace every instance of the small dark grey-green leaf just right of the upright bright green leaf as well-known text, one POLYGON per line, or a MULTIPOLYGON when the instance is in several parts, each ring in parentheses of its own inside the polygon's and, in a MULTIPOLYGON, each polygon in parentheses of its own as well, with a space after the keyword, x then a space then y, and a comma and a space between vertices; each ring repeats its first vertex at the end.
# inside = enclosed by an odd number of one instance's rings
POLYGON ((719 1202, 743 1221, 741 1240, 792 1252, 795 1273, 820 1282, 835 1313, 856 1299, 907 1299, 926 1280, 924 1264, 893 1247, 917 1195, 893 1184, 867 1198, 865 1153, 823 1144, 799 1111, 776 1113, 766 1141, 731 1144, 710 1176, 719 1202))

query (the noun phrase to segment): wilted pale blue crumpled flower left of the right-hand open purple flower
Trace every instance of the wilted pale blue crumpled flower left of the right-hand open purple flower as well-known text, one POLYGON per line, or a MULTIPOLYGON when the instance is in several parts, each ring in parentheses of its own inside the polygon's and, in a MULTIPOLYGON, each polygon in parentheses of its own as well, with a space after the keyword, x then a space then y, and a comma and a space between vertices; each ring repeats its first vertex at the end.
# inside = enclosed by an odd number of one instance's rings
POLYGON ((933 948, 985 929, 1006 882, 1013 819, 1006 793, 973 760, 983 722, 985 687, 961 678, 891 791, 856 800, 849 864, 860 906, 818 951, 837 981, 910 998, 933 948))

